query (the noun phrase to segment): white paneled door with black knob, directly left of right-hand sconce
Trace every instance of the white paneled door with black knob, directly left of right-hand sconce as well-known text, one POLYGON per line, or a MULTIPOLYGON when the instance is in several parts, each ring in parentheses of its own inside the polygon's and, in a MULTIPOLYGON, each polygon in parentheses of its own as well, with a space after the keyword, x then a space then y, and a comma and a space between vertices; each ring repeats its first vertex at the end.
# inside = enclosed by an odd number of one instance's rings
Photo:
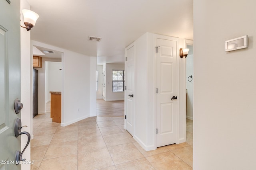
POLYGON ((176 143, 176 41, 156 40, 156 119, 157 119, 157 147, 176 143))

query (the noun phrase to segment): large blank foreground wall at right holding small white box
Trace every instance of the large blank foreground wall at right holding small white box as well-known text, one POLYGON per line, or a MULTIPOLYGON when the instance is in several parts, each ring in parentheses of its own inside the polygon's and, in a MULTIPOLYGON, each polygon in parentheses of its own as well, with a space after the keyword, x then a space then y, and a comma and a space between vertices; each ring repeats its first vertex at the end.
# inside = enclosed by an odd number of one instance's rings
POLYGON ((193 169, 256 167, 256 1, 194 0, 193 169), (225 41, 248 35, 248 48, 225 41))

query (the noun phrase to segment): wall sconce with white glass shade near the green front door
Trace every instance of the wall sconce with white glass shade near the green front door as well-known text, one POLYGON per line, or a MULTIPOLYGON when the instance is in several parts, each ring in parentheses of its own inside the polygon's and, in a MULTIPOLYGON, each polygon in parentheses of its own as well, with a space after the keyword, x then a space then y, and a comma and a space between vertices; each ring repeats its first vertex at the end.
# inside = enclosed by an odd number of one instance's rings
POLYGON ((26 27, 23 27, 23 28, 26 28, 27 31, 29 31, 32 27, 35 26, 36 24, 36 20, 38 19, 38 14, 36 14, 35 12, 33 11, 30 11, 30 10, 22 10, 22 14, 23 14, 23 17, 24 17, 24 24, 26 27))

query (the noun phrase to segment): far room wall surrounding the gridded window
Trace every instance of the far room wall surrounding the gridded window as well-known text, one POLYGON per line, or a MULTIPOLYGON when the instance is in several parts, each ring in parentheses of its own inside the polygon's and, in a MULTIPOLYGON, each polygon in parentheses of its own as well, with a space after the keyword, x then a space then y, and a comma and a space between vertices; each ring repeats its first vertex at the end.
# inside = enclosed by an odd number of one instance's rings
MULTIPOLYGON (((106 63, 106 101, 124 100, 124 92, 112 92, 112 71, 124 70, 124 64, 106 63)), ((125 74, 125 73, 124 73, 125 74)))

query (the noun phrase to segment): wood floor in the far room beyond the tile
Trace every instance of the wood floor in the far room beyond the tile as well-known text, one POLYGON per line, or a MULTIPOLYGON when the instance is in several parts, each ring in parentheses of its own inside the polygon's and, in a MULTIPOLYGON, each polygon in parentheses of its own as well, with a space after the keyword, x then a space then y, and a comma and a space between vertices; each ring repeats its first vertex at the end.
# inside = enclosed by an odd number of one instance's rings
POLYGON ((97 99, 97 116, 124 117, 124 100, 105 101, 97 99))

